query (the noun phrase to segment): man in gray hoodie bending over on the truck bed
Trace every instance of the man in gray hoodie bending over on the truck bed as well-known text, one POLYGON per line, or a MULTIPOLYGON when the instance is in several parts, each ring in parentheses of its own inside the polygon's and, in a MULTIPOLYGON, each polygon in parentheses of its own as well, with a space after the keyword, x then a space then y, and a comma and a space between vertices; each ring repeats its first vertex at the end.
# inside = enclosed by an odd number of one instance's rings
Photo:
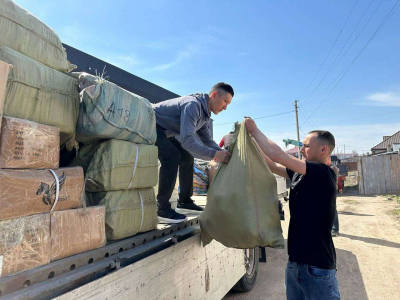
POLYGON ((193 196, 194 158, 216 159, 228 163, 231 154, 211 137, 211 112, 226 110, 234 95, 229 84, 220 82, 208 94, 196 93, 157 103, 154 106, 157 122, 158 159, 161 162, 158 185, 158 219, 162 223, 179 223, 187 217, 181 213, 201 212, 193 196), (200 141, 196 139, 197 136, 200 141), (179 136, 180 142, 175 138, 179 136), (175 187, 179 168, 180 193, 177 211, 169 202, 175 187), (181 213, 179 213, 181 212, 181 213))

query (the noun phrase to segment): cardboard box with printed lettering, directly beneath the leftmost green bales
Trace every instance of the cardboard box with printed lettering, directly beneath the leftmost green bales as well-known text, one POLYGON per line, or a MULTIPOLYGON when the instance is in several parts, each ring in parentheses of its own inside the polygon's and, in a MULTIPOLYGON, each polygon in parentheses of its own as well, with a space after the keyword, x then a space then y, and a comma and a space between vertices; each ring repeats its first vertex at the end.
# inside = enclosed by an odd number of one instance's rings
POLYGON ((0 136, 0 168, 57 169, 60 129, 4 117, 0 136))

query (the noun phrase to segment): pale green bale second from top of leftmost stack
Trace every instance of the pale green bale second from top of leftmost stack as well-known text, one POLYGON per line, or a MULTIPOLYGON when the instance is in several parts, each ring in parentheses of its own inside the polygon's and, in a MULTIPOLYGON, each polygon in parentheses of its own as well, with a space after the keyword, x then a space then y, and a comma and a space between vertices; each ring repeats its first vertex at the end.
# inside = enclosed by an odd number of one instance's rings
POLYGON ((0 60, 13 65, 8 75, 4 115, 60 129, 70 146, 79 113, 76 79, 0 45, 0 60))

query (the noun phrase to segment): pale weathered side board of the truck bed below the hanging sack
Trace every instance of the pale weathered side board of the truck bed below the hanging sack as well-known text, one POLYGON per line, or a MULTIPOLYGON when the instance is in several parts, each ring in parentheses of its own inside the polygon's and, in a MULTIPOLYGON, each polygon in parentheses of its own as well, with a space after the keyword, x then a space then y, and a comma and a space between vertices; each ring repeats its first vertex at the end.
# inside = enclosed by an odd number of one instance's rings
POLYGON ((243 250, 198 234, 56 299, 221 299, 244 273, 243 250))

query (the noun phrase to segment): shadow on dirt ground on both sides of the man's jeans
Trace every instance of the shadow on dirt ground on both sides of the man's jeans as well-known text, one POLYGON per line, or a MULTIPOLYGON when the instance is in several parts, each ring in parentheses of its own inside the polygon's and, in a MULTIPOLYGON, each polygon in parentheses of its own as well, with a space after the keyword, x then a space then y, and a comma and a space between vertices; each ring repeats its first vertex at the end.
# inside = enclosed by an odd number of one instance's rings
MULTIPOLYGON (((342 234, 341 234, 342 236, 342 234)), ((226 300, 285 300, 285 268, 287 250, 266 249, 267 263, 259 264, 255 286, 250 292, 231 291, 226 300)), ((336 249, 339 290, 342 299, 368 300, 360 266, 356 255, 350 251, 336 249)))

